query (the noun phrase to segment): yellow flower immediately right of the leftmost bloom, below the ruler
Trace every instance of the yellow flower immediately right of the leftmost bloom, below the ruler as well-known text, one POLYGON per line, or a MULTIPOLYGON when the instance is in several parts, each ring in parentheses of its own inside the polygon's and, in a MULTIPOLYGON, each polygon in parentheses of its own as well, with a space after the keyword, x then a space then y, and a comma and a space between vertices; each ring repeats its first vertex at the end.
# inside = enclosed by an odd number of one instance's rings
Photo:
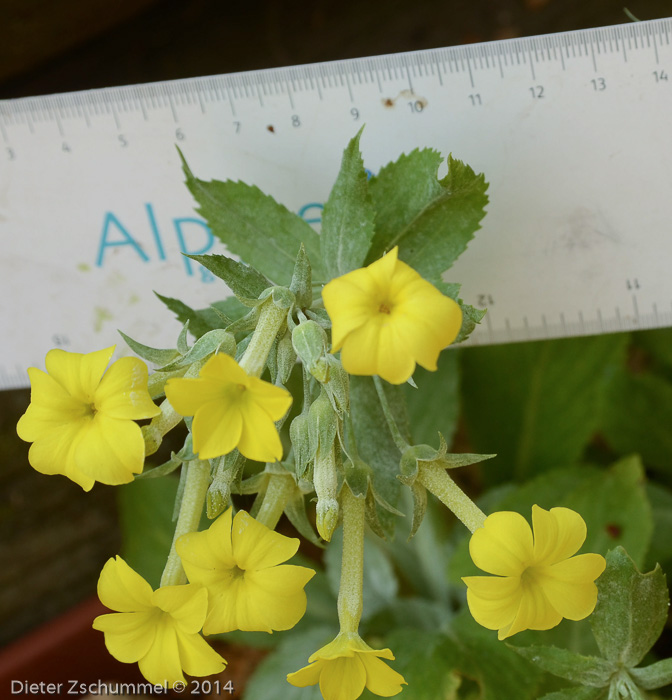
POLYGON ((250 377, 229 355, 213 355, 198 379, 169 379, 166 397, 183 416, 194 416, 194 450, 212 459, 236 447, 249 459, 282 459, 274 421, 292 405, 286 390, 250 377))

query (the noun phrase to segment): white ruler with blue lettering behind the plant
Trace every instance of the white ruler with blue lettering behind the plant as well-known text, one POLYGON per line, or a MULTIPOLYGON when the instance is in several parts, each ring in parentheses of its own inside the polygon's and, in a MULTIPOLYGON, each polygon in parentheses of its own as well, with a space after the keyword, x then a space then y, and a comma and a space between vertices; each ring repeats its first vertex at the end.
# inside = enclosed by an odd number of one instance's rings
POLYGON ((170 347, 152 290, 227 290, 202 179, 258 185, 319 227, 348 140, 366 166, 433 147, 485 173, 483 228, 448 278, 488 344, 672 325, 672 20, 0 101, 0 387, 54 346, 170 347))

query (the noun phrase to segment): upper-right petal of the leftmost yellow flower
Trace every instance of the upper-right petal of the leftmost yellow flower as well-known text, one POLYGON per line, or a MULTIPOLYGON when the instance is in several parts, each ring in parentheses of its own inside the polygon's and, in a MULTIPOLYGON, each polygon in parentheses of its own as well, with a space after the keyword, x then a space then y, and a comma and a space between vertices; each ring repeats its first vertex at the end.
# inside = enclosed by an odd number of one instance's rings
POLYGON ((105 372, 94 393, 96 408, 110 418, 142 420, 161 413, 147 391, 147 365, 122 357, 105 372))

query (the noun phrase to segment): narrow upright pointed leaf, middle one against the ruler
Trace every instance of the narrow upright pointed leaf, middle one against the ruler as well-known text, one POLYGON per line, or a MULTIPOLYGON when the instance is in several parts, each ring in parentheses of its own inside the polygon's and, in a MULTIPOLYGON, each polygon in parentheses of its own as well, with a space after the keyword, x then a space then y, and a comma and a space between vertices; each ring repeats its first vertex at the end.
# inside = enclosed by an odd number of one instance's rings
POLYGON ((362 129, 343 152, 341 170, 322 213, 320 246, 327 279, 361 267, 373 239, 376 213, 359 152, 362 129))

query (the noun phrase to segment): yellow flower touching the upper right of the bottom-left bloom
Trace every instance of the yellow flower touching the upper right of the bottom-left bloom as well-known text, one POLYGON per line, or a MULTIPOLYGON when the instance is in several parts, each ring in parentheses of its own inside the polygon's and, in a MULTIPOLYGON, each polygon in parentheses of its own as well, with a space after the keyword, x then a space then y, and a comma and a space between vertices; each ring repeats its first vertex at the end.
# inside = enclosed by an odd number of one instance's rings
POLYGON ((288 630, 306 612, 304 586, 315 575, 303 566, 283 565, 299 540, 229 508, 203 532, 183 535, 177 553, 189 581, 208 589, 204 634, 232 630, 288 630))

